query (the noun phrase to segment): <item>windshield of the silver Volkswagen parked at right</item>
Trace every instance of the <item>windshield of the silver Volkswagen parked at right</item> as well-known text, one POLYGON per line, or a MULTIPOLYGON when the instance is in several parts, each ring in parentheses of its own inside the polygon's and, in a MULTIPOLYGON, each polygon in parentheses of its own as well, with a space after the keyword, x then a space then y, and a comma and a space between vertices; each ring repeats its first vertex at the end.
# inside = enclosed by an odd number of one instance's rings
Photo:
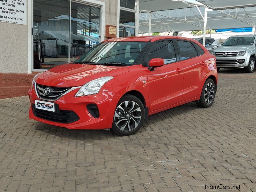
POLYGON ((222 46, 253 45, 254 37, 229 37, 222 46))

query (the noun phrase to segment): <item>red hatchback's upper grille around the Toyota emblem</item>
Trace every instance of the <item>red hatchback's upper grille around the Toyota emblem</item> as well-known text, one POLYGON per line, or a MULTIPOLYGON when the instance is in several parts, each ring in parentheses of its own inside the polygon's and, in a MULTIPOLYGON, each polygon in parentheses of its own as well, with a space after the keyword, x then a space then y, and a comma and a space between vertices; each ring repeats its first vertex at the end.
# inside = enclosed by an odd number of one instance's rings
POLYGON ((67 92, 70 87, 49 87, 45 85, 36 84, 36 92, 40 99, 48 100, 48 101, 55 101, 59 99, 65 92, 67 92), (45 95, 44 89, 49 88, 50 93, 45 95))

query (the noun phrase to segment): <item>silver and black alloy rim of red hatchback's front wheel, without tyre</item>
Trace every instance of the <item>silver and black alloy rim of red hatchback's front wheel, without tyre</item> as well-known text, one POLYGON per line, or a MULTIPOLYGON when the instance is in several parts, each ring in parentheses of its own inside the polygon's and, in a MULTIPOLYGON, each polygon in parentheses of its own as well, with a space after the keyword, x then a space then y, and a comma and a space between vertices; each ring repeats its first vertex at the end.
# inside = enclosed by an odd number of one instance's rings
POLYGON ((124 101, 116 108, 114 120, 121 131, 132 131, 141 120, 140 106, 134 101, 124 101))

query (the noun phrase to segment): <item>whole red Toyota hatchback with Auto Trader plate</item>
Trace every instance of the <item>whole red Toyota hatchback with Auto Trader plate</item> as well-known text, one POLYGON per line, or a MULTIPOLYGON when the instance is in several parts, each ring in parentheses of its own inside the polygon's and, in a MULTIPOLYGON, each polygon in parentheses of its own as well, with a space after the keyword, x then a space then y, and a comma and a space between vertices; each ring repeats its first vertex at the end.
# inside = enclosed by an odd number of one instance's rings
POLYGON ((137 132, 148 115, 195 101, 210 107, 216 59, 197 41, 176 36, 106 40, 72 63, 36 75, 30 119, 68 129, 137 132))

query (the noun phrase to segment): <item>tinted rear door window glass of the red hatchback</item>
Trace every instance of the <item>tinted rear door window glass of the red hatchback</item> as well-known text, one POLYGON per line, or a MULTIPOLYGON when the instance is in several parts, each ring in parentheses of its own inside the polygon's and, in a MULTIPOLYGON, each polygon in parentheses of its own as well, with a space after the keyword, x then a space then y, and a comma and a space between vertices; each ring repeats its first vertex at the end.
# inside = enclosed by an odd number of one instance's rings
POLYGON ((197 57, 197 52, 192 43, 188 41, 178 41, 182 60, 197 57))

